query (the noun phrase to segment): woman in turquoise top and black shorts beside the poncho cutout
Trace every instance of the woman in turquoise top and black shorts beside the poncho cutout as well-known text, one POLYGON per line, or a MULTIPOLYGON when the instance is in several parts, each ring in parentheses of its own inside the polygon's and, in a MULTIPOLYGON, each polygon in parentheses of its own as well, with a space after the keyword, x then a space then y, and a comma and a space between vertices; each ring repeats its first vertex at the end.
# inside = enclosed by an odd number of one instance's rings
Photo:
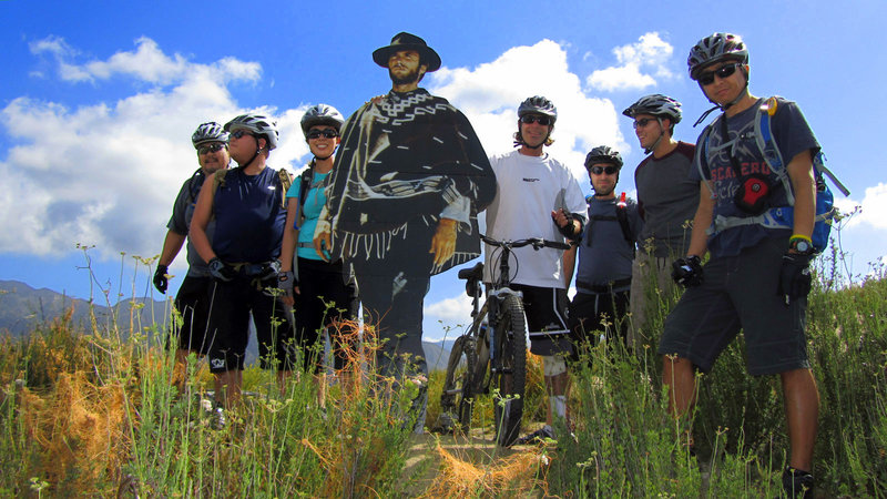
MULTIPOLYGON (((344 121, 336 108, 326 104, 313 105, 302 116, 302 132, 314 157, 286 194, 286 230, 281 251, 279 287, 286 292, 284 303, 295 304, 296 334, 306 352, 306 369, 318 376, 322 407, 326 386, 326 378, 320 373, 323 358, 312 358, 308 353, 318 352, 316 346, 326 327, 333 345, 335 369, 337 373, 345 369, 347 346, 351 343, 351 335, 345 327, 347 322, 357 317, 358 308, 350 266, 345 266, 341 258, 323 259, 313 244, 314 230, 326 204, 320 185, 333 171, 344 121), (294 263, 294 255, 297 263, 294 263)), ((328 258, 329 252, 325 252, 325 256, 328 258)), ((354 352, 354 346, 349 349, 354 352)), ((319 352, 323 354, 323 348, 319 352)))

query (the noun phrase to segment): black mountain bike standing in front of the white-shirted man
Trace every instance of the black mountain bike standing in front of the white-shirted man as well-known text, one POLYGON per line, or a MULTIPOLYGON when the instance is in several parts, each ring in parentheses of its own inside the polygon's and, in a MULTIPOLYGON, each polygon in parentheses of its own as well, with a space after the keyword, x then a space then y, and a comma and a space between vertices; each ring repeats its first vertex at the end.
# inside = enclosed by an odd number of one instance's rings
POLYGON ((467 434, 471 426, 475 397, 493 387, 496 442, 511 446, 520 435, 523 417, 523 389, 527 375, 527 335, 520 292, 511 289, 509 257, 512 249, 532 246, 569 249, 570 245, 540 237, 519 241, 480 238, 493 246, 499 275, 487 285, 487 299, 480 305, 483 264, 459 271, 471 297, 471 326, 456 338, 447 363, 440 395, 441 427, 467 434))

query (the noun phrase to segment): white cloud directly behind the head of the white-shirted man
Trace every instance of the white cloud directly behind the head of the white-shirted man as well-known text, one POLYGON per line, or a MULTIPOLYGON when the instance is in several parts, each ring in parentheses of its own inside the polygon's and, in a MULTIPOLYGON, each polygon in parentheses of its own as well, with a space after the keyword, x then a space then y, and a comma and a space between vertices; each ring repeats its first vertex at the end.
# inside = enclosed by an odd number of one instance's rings
POLYGON ((582 91, 580 78, 567 64, 567 51, 551 40, 514 47, 473 69, 445 67, 429 78, 429 91, 447 98, 468 116, 488 154, 513 149, 518 105, 537 94, 544 94, 558 108, 550 151, 580 183, 588 182, 582 163, 591 147, 629 147, 613 103, 582 91))

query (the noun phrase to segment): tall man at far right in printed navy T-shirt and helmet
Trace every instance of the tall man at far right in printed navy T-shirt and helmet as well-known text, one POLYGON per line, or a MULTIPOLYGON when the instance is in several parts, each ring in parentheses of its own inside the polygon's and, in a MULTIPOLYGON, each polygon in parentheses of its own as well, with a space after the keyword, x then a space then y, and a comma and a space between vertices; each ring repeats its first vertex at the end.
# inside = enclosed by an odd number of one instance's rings
POLYGON ((676 418, 690 417, 695 371, 708 373, 742 329, 748 373, 781 377, 791 441, 785 492, 813 497, 819 396, 804 324, 809 262, 815 256, 813 155, 819 144, 797 104, 751 94, 748 48, 741 37, 714 33, 700 40, 690 51, 687 67, 690 78, 723 113, 696 144, 692 174, 702 181, 700 204, 690 248, 674 263, 673 273, 687 289, 666 318, 659 347, 670 409, 676 418), (756 143, 757 113, 765 103, 773 112, 771 132, 787 162, 786 184, 769 170, 756 143), (771 189, 763 194, 764 210, 788 206, 788 195, 794 195, 793 227, 756 222, 755 205, 744 195, 750 179, 771 189), (721 220, 748 223, 718 228, 713 222, 721 220), (702 266, 706 253, 710 259, 702 266))

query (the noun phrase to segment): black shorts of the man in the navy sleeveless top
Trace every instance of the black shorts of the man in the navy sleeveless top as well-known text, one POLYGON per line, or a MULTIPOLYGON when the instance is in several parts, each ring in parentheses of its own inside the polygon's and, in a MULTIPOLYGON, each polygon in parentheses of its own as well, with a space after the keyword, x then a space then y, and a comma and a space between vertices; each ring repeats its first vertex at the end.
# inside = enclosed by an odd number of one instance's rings
POLYGON ((210 371, 243 370, 251 314, 262 368, 292 370, 297 356, 293 309, 256 289, 246 278, 215 283, 214 289, 210 330, 215 338, 210 347, 210 371))

